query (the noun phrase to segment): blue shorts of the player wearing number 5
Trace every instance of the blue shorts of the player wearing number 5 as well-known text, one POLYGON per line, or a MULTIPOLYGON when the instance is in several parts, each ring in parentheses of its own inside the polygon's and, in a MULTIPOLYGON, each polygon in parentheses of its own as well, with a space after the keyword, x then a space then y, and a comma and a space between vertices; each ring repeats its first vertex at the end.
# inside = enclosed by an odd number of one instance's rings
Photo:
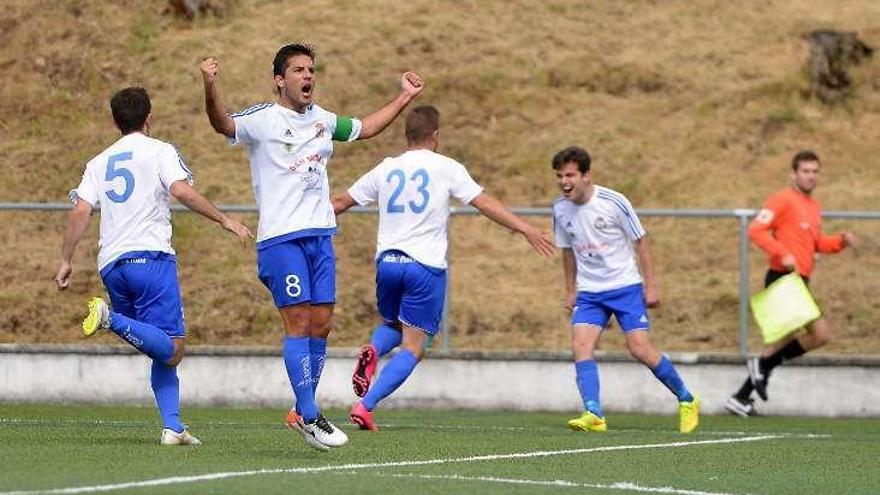
POLYGON ((101 270, 101 278, 114 312, 158 327, 171 338, 186 336, 174 255, 126 253, 101 270))

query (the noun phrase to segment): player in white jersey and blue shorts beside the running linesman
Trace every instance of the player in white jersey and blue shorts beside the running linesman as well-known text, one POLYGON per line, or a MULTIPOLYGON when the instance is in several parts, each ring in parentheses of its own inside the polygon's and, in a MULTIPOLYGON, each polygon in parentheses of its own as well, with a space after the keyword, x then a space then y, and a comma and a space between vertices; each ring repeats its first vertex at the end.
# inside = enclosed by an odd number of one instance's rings
POLYGON ((648 311, 660 303, 646 232, 629 200, 593 184, 590 155, 577 146, 552 161, 562 197, 553 203, 556 246, 562 249, 565 307, 571 311, 571 347, 584 413, 568 422, 580 431, 605 431, 599 369, 593 350, 613 315, 629 353, 647 366, 679 402, 679 431, 699 422, 699 400, 668 357, 648 339, 648 311), (638 264, 636 263, 638 256, 638 264), (641 273, 639 269, 641 268, 641 273))

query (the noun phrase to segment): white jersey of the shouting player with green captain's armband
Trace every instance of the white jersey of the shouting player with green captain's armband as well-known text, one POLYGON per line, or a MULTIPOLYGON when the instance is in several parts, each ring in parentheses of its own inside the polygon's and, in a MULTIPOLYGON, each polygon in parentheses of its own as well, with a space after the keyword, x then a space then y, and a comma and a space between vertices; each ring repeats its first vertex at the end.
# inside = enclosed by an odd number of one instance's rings
POLYGON ((336 216, 327 180, 332 140, 357 139, 360 121, 337 117, 318 105, 298 113, 277 103, 254 105, 231 117, 235 138, 230 142, 247 145, 250 157, 260 211, 257 247, 332 234, 336 216))

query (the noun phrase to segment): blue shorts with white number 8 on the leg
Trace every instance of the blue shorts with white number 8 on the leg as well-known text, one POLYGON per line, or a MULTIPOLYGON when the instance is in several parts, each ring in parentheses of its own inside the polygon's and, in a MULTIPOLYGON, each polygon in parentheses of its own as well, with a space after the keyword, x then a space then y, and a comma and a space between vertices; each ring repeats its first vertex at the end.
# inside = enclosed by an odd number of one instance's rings
POLYGON ((329 235, 301 237, 257 250, 257 274, 275 306, 336 302, 336 255, 329 235))

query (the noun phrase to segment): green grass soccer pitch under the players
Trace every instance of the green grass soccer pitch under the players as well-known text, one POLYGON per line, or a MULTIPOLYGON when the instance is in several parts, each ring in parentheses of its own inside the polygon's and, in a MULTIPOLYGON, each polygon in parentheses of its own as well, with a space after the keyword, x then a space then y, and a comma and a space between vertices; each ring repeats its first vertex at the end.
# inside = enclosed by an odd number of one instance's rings
POLYGON ((880 491, 880 420, 610 413, 604 434, 569 415, 379 411, 382 431, 330 452, 284 428, 280 409, 187 408, 204 442, 160 447, 150 408, 0 404, 8 493, 869 494, 880 491))

